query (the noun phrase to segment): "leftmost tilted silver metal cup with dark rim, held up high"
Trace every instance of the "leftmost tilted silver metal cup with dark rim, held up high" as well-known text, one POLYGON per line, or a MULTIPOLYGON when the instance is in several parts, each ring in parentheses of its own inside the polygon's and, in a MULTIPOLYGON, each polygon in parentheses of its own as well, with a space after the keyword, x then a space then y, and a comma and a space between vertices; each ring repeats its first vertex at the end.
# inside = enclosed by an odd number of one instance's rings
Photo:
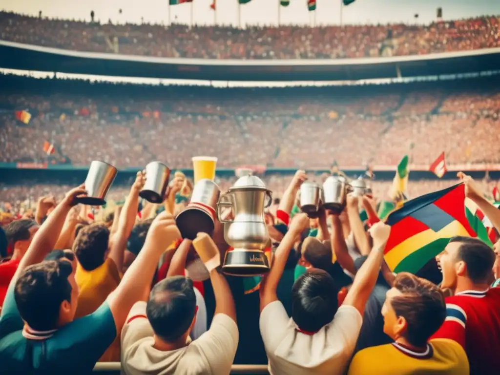
POLYGON ((93 160, 85 178, 87 195, 76 198, 76 201, 87 205, 105 204, 104 198, 117 172, 118 170, 113 165, 104 161, 93 160))

